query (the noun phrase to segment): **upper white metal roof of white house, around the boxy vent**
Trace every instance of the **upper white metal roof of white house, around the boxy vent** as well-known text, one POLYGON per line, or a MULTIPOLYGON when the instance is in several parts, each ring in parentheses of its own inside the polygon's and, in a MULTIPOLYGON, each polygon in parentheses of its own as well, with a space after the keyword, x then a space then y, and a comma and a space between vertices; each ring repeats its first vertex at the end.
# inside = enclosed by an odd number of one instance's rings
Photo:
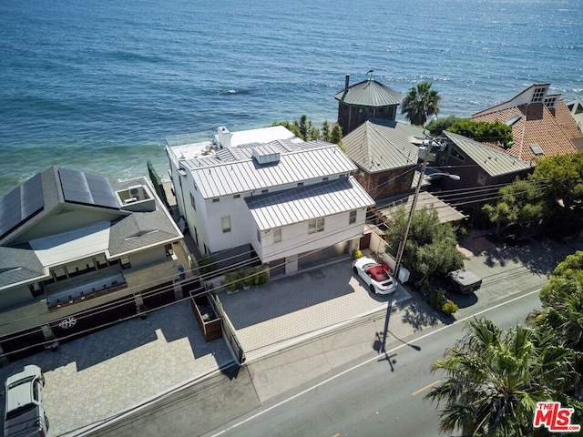
MULTIPOLYGON (((250 148, 251 152, 251 147, 246 148, 250 148)), ((340 148, 329 143, 292 152, 281 149, 280 160, 265 165, 260 165, 253 158, 228 162, 207 158, 189 159, 184 161, 184 166, 190 170, 203 198, 281 187, 350 173, 356 169, 340 148)))

